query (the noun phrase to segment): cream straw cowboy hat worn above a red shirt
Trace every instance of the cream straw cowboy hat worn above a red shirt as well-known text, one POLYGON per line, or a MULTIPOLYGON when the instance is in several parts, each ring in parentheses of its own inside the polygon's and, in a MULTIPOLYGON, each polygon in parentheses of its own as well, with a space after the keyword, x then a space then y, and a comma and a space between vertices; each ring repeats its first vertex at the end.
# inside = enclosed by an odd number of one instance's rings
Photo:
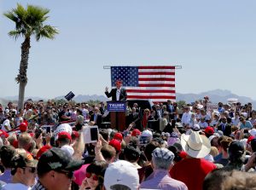
POLYGON ((192 131, 190 135, 181 135, 181 145, 193 158, 204 158, 211 151, 211 143, 207 136, 200 135, 198 131, 192 131))

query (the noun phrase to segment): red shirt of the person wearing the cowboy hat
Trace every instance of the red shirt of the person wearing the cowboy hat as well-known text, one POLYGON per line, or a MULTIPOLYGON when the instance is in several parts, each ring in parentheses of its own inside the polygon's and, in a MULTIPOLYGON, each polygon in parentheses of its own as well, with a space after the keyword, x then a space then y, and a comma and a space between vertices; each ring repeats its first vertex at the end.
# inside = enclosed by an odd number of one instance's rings
POLYGON ((183 181, 189 190, 201 190, 207 174, 216 166, 204 158, 185 158, 170 170, 172 178, 183 181))

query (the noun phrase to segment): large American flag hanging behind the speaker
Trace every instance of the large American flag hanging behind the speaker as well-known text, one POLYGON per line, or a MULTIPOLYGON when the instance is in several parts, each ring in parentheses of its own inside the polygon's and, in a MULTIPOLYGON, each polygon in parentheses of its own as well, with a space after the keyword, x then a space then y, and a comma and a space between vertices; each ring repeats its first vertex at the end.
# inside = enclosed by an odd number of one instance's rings
POLYGON ((127 99, 175 101, 175 66, 111 66, 111 83, 123 81, 127 99))

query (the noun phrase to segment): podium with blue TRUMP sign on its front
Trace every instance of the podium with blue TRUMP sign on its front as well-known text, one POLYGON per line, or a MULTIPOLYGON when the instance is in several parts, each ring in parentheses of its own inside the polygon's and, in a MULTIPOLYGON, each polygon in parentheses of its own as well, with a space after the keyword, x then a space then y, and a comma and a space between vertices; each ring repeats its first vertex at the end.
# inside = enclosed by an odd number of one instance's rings
POLYGON ((107 107, 110 112, 111 128, 125 130, 126 101, 107 101, 107 107))

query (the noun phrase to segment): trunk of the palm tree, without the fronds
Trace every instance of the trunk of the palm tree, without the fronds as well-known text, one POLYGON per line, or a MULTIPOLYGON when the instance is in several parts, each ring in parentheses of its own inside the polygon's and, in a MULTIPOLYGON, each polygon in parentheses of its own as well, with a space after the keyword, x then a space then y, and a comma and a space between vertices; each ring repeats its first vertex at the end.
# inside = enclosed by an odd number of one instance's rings
POLYGON ((27 83, 26 70, 28 65, 29 49, 30 49, 30 37, 26 37, 24 42, 21 44, 20 70, 17 78, 15 78, 17 83, 20 83, 18 110, 24 107, 23 105, 24 105, 25 87, 27 83))

